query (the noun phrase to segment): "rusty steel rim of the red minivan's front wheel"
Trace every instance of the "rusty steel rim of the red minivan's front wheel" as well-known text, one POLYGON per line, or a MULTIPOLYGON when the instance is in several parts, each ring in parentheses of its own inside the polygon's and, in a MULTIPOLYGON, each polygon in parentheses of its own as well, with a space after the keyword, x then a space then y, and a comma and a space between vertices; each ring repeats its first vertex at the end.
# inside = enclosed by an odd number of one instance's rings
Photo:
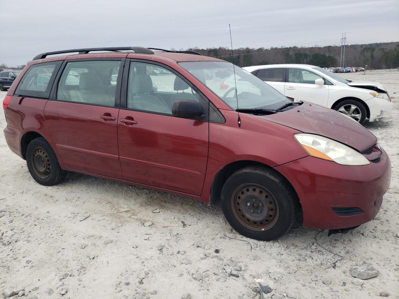
POLYGON ((253 231, 271 229, 279 219, 279 204, 273 194, 258 184, 243 184, 231 195, 231 210, 237 221, 253 231))

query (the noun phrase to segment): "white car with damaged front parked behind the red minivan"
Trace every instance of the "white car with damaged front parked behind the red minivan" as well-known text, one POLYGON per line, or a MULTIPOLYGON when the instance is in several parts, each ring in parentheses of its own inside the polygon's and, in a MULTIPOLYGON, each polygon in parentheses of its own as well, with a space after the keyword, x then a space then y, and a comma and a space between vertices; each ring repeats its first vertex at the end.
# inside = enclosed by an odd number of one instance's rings
POLYGON ((348 81, 314 65, 257 65, 244 69, 285 96, 332 108, 360 124, 366 119, 377 122, 392 118, 391 98, 381 83, 348 81))

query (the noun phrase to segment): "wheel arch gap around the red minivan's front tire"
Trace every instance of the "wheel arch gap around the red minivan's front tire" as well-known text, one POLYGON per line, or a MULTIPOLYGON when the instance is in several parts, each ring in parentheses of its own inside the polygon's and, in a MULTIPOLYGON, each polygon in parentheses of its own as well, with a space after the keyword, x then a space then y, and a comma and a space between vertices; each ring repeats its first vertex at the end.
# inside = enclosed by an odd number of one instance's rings
MULTIPOLYGON (((245 161, 235 161, 233 163, 230 163, 230 164, 226 165, 225 167, 223 167, 222 169, 220 169, 219 172, 213 178, 213 182, 212 182, 212 186, 211 186, 211 193, 209 195, 209 204, 215 205, 216 202, 220 200, 223 185, 224 185, 225 181, 227 181, 227 179, 230 177, 230 175, 232 175, 239 169, 242 169, 244 167, 249 167, 249 166, 260 166, 260 167, 265 167, 267 169, 276 171, 272 167, 270 167, 266 164, 260 163, 260 162, 256 162, 256 161, 245 160, 245 161)), ((277 173, 279 173, 279 172, 277 172, 277 173)), ((287 183, 287 185, 290 186, 290 189, 291 189, 292 193, 294 194, 294 198, 296 201, 296 207, 298 208, 298 211, 299 211, 298 214, 302 215, 302 206, 300 204, 299 197, 296 194, 294 187, 292 187, 291 183, 281 173, 279 173, 279 175, 282 177, 282 179, 284 179, 284 181, 287 183)))

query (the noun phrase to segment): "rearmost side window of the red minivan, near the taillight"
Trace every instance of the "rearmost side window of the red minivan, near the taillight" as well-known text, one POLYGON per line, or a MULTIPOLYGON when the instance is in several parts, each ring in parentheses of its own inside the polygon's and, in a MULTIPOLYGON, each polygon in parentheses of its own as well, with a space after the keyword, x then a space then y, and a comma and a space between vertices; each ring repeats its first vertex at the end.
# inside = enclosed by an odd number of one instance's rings
POLYGON ((62 61, 32 65, 25 73, 15 94, 34 98, 48 98, 55 75, 62 61))

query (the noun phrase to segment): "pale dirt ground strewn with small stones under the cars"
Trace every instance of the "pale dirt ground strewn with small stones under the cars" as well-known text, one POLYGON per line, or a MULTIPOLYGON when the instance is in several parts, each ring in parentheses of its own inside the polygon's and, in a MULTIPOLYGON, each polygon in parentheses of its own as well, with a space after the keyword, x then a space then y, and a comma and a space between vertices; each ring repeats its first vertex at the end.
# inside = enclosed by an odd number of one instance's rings
POLYGON ((193 199, 80 174, 41 186, 0 134, 1 294, 247 299, 260 298, 252 288, 263 279, 265 298, 399 298, 399 72, 342 77, 381 82, 394 104, 393 120, 365 125, 393 168, 374 220, 348 234, 297 227, 259 242, 232 231, 219 206, 193 199), (355 285, 350 268, 363 262, 379 274, 355 285))

